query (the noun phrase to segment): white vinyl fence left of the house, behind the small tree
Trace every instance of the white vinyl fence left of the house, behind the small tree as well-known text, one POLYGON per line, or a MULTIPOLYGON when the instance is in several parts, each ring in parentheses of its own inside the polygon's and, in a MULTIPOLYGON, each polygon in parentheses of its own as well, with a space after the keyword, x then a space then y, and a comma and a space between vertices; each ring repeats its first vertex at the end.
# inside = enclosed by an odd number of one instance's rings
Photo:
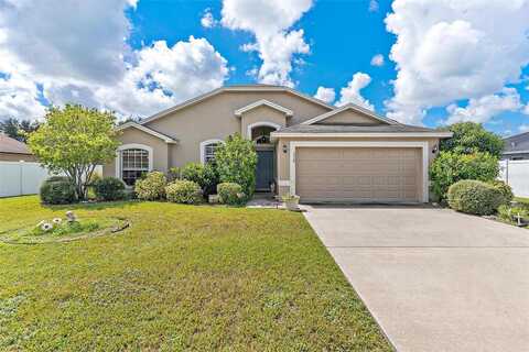
MULTIPOLYGON (((101 175, 101 172, 102 167, 98 165, 95 173, 101 175)), ((0 197, 35 195, 50 176, 39 163, 0 162, 0 197)))

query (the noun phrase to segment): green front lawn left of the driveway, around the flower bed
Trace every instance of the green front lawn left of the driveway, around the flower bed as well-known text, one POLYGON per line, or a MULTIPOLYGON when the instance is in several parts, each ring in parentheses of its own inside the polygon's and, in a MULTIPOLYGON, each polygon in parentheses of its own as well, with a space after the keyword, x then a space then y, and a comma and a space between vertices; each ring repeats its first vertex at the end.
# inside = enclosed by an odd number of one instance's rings
POLYGON ((0 244, 1 351, 390 351, 300 213, 0 199, 0 231, 75 209, 119 234, 0 244))

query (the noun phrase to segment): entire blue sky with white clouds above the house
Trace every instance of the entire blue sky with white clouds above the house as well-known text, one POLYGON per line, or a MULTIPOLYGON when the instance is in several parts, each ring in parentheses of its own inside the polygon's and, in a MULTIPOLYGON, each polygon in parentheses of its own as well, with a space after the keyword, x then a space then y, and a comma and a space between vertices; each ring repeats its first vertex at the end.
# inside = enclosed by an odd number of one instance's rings
POLYGON ((149 117, 283 85, 402 123, 529 131, 529 0, 0 0, 0 120, 149 117))

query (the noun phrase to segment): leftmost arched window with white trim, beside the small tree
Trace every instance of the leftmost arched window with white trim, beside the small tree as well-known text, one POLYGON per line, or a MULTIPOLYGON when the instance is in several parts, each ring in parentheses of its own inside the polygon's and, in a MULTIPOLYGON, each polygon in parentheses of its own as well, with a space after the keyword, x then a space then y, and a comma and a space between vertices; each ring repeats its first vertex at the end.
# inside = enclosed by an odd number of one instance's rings
POLYGON ((138 178, 152 170, 152 148, 141 144, 125 144, 118 148, 116 176, 127 186, 133 186, 138 178))

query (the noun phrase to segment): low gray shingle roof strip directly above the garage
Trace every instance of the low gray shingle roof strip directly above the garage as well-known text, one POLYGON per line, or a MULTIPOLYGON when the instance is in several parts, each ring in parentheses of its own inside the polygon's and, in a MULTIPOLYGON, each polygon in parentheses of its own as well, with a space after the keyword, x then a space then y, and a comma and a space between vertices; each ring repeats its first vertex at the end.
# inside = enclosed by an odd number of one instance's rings
POLYGON ((398 133, 398 132, 439 132, 407 124, 338 125, 338 124, 295 124, 283 128, 278 133, 398 133))

